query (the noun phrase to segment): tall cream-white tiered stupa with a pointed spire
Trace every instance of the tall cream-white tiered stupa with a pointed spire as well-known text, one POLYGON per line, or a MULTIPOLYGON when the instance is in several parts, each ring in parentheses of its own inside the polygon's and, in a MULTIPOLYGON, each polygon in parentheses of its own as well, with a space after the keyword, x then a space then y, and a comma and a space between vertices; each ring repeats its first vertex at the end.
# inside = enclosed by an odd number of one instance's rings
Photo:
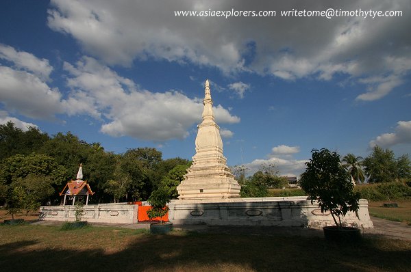
POLYGON ((195 139, 196 154, 177 191, 179 200, 227 199, 240 197, 240 185, 234 180, 223 155, 220 127, 214 122, 210 83, 206 80, 203 122, 195 139))

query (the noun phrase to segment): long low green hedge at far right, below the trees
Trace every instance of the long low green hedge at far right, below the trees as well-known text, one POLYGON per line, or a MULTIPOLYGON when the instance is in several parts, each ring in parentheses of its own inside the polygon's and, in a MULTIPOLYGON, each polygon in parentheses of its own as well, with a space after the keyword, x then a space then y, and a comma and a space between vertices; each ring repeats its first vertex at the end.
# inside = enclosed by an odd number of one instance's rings
POLYGON ((361 198, 373 201, 401 200, 411 197, 411 187, 403 182, 358 185, 355 191, 360 193, 361 198))

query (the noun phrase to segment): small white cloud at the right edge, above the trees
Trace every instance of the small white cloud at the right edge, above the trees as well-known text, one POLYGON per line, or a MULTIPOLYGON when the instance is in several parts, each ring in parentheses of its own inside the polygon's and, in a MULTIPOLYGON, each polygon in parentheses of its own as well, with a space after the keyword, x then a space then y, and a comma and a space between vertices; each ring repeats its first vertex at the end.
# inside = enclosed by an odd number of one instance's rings
POLYGON ((395 133, 384 133, 370 141, 369 146, 389 148, 397 144, 411 144, 411 121, 399 121, 395 133))

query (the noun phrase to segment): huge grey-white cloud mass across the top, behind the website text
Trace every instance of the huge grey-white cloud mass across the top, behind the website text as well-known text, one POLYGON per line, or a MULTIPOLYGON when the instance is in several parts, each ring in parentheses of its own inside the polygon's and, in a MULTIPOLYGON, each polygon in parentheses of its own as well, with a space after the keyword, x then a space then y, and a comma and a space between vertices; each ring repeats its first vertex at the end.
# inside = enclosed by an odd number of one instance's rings
MULTIPOLYGON (((225 73, 271 74, 284 80, 330 80, 345 75, 362 83, 357 100, 380 99, 410 72, 408 0, 345 1, 340 10, 401 10, 403 16, 362 18, 183 17, 175 10, 327 10, 328 1, 51 1, 48 25, 73 36, 107 64, 134 59, 212 66, 225 73), (158 8, 161 5, 161 8, 158 8), (310 8, 309 8, 310 7, 310 8), (130 27, 132 25, 133 27, 130 27), (190 25, 190 27, 186 27, 190 25), (270 25, 270 27, 266 27, 270 25), (287 27, 284 27, 287 25, 287 27), (384 42, 382 42, 384 41, 384 42), (251 45, 251 46, 250 46, 251 45), (379 81, 367 81, 379 77, 379 81)), ((238 90, 242 96, 241 89, 238 90)))

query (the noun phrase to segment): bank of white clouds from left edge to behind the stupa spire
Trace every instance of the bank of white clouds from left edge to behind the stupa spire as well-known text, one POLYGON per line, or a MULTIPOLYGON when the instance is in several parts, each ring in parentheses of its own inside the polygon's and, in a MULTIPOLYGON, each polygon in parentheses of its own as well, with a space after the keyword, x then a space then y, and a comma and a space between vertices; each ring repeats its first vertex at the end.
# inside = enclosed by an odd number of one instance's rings
MULTIPOLYGON (((69 87, 64 95, 46 83, 52 70, 47 59, 4 45, 0 59, 12 62, 12 67, 0 65, 0 99, 9 112, 42 120, 56 120, 58 114, 90 115, 103 123, 103 133, 152 141, 183 139, 190 126, 201 122, 203 105, 197 98, 173 90, 140 90, 134 81, 92 57, 84 56, 75 64, 64 62, 69 87)), ((223 124, 240 122, 221 105, 214 107, 214 114, 223 124)))

